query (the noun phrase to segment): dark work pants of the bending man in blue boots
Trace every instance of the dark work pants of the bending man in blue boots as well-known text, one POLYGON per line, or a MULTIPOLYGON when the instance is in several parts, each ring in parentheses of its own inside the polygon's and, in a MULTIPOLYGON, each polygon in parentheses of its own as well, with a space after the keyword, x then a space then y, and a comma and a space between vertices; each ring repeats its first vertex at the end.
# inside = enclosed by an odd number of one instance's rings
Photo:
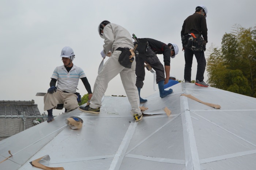
POLYGON ((145 67, 144 61, 146 61, 156 73, 156 82, 158 83, 161 80, 165 80, 165 69, 163 68, 162 63, 157 57, 157 54, 154 53, 150 48, 146 51, 146 53, 140 53, 138 57, 135 57, 136 61, 136 87, 142 88, 145 79, 145 67))

